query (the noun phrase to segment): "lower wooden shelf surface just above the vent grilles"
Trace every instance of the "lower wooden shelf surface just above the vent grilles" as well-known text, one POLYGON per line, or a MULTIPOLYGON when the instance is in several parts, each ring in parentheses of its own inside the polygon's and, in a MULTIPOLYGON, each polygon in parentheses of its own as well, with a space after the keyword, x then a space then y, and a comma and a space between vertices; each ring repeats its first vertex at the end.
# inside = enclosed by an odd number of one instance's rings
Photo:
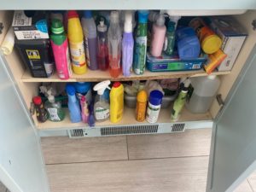
MULTIPOLYGON (((157 123, 171 123, 171 110, 170 108, 161 108, 160 117, 157 123)), ((212 116, 210 113, 190 113, 186 108, 183 108, 178 122, 184 121, 197 121, 197 120, 211 120, 212 116)), ((136 124, 148 124, 145 120, 144 122, 137 122, 135 119, 135 108, 125 108, 124 116, 119 123, 113 124, 110 120, 104 122, 96 122, 96 126, 112 126, 112 125, 136 125, 136 124)), ((88 127, 84 123, 72 123, 69 119, 69 113, 66 109, 66 117, 61 122, 52 122, 47 120, 44 123, 38 123, 39 130, 49 130, 49 129, 60 129, 60 128, 75 128, 75 127, 88 127)))

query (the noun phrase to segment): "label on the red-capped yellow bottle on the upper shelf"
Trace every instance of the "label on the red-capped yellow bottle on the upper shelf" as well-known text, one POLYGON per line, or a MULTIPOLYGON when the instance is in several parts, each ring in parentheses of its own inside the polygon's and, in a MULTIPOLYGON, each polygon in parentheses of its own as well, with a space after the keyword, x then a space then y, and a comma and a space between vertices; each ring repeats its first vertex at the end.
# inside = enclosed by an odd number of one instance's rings
POLYGON ((77 67, 84 66, 85 63, 85 54, 84 54, 84 41, 81 43, 69 43, 71 58, 73 65, 77 67))

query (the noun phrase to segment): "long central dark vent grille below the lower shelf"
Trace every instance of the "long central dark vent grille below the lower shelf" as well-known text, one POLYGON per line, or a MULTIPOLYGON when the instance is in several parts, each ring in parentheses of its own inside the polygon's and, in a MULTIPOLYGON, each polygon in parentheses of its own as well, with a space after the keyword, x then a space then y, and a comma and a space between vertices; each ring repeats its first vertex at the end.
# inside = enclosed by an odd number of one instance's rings
POLYGON ((157 133, 158 125, 113 126, 101 128, 102 136, 157 133))

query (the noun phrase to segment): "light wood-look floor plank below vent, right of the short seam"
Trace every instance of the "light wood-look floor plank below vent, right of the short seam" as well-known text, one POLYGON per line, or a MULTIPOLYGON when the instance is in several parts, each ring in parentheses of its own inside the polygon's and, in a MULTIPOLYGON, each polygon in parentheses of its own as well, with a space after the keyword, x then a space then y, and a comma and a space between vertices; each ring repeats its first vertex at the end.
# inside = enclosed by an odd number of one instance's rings
POLYGON ((127 136, 129 159, 209 155, 212 129, 183 133, 127 136))

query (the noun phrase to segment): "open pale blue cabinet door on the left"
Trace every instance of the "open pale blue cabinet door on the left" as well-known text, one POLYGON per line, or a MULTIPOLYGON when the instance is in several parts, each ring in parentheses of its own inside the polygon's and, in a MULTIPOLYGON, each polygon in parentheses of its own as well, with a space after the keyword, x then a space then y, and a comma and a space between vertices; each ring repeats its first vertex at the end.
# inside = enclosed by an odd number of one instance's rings
POLYGON ((0 180, 12 192, 49 191, 37 131, 21 104, 3 55, 0 55, 0 180))

